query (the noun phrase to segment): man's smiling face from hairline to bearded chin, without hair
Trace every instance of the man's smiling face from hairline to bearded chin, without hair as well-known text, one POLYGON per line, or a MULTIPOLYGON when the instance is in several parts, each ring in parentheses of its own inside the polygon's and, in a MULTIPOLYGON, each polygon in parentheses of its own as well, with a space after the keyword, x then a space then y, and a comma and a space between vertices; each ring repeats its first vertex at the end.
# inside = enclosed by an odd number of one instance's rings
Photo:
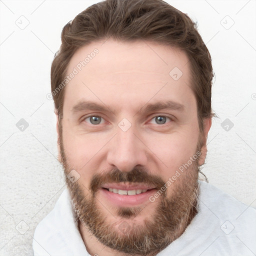
POLYGON ((71 72, 60 150, 65 173, 79 177, 66 181, 83 227, 119 251, 162 249, 195 214, 204 161, 188 58, 169 46, 108 39, 77 50, 71 72))

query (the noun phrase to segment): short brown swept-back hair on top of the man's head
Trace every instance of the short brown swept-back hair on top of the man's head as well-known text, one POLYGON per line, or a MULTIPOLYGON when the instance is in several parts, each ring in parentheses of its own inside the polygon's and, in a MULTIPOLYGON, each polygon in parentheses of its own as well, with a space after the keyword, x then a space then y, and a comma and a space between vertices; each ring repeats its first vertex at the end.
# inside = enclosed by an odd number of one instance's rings
POLYGON ((83 10, 63 27, 61 46, 51 65, 51 91, 60 118, 64 87, 53 92, 62 83, 72 55, 86 44, 109 37, 120 41, 148 40, 184 51, 189 59, 191 87, 202 129, 203 118, 212 116, 211 57, 195 23, 162 0, 101 1, 83 10))

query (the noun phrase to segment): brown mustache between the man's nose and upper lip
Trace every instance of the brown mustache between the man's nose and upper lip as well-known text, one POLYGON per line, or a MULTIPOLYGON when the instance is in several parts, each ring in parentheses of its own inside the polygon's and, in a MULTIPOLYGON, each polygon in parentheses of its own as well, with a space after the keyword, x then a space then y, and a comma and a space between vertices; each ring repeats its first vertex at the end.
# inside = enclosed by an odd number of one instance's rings
POLYGON ((94 174, 91 178, 89 189, 94 194, 104 183, 110 182, 143 183, 154 186, 157 188, 157 190, 165 184, 165 182, 159 176, 150 174, 149 171, 144 168, 135 167, 128 172, 120 171, 118 168, 114 168, 105 173, 94 174))

